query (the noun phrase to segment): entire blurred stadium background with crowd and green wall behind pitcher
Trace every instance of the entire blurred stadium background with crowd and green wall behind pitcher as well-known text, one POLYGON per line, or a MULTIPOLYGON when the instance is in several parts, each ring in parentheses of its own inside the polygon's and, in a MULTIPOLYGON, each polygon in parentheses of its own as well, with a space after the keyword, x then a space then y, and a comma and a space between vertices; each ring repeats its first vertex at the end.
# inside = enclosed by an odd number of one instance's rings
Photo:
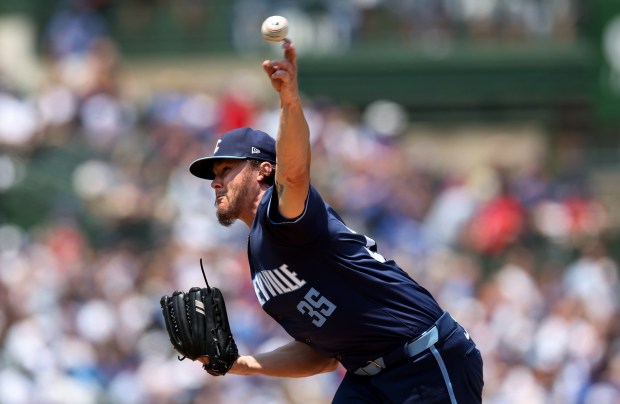
POLYGON ((620 6, 611 0, 3 0, 0 402, 324 403, 341 372, 207 377, 159 297, 286 338, 189 162, 275 133, 291 22, 313 178, 474 336, 486 403, 620 400, 620 6))

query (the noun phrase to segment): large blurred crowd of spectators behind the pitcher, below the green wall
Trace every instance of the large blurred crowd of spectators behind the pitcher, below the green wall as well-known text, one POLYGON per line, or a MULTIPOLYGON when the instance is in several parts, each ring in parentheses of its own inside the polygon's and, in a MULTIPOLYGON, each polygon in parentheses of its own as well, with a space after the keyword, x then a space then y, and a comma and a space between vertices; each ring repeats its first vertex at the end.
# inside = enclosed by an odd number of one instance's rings
MULTIPOLYGON (((225 130, 275 134, 275 97, 129 97, 114 42, 67 27, 50 31, 40 88, 0 76, 0 402, 329 402, 342 369, 214 378, 162 328, 159 298, 202 285, 202 258, 241 352, 287 341, 254 296, 247 229, 223 229, 187 170, 225 130)), ((468 329, 484 402, 619 402, 618 229, 578 150, 448 170, 397 105, 305 101, 314 185, 468 329)))

